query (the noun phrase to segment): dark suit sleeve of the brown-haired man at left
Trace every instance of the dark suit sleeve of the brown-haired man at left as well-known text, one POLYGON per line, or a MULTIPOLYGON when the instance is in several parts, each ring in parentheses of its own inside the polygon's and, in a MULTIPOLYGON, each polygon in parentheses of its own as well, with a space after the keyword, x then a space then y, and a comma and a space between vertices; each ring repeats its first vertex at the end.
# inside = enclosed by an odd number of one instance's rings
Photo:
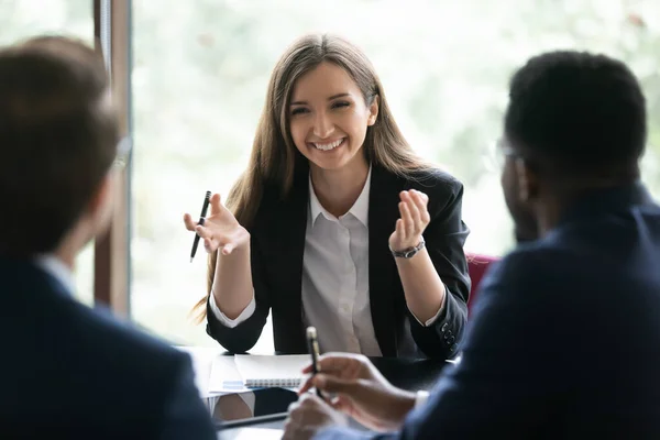
POLYGON ((175 369, 173 389, 165 402, 161 439, 216 439, 210 413, 195 386, 190 359, 182 354, 175 369))

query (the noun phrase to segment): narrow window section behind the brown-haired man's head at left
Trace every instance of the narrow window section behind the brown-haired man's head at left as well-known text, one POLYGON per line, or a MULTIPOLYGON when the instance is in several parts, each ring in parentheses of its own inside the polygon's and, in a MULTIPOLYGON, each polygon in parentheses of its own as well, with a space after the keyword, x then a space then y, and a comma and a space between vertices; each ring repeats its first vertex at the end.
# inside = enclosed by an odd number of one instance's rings
MULTIPOLYGON (((65 34, 94 43, 91 0, 0 0, 0 45, 36 34, 65 34)), ((94 243, 76 261, 77 295, 94 302, 94 243)))

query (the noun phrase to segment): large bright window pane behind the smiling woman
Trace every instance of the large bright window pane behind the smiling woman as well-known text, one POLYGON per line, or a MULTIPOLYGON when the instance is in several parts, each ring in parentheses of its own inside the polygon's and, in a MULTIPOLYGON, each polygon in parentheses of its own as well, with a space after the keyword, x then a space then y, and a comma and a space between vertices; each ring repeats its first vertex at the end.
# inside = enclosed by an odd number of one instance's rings
MULTIPOLYGON (((187 316, 206 290, 204 252, 188 262, 206 190, 227 195, 246 163, 276 58, 305 32, 364 48, 394 114, 424 156, 465 185, 469 251, 513 243, 490 147, 507 80, 529 56, 587 48, 628 62, 649 101, 645 177, 660 195, 660 2, 536 0, 136 1, 133 6, 132 314, 179 343, 215 345, 187 316)), ((255 351, 271 351, 271 328, 255 351)))

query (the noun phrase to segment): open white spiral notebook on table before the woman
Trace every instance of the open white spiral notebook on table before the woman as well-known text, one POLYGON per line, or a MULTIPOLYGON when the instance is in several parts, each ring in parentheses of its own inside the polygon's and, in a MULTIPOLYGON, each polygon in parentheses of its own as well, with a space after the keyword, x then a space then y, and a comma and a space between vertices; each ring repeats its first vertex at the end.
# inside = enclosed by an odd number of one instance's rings
POLYGON ((267 356, 256 354, 234 355, 237 370, 248 388, 278 386, 295 388, 302 380, 302 369, 311 362, 308 354, 267 356))

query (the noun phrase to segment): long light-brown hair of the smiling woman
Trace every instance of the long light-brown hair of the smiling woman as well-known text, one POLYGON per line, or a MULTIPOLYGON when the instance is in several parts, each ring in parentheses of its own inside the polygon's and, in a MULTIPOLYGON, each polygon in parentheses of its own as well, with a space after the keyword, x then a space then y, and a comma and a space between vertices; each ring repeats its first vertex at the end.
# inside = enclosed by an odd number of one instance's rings
MULTIPOLYGON (((296 163, 299 164, 304 157, 292 140, 287 109, 296 80, 322 62, 343 68, 362 91, 367 106, 378 97, 378 116, 376 122, 367 129, 363 145, 367 161, 400 176, 410 176, 411 172, 429 166, 404 139, 385 99, 383 85, 366 55, 336 35, 305 35, 286 50, 273 69, 248 168, 227 198, 227 207, 248 230, 253 224, 266 182, 276 183, 283 197, 292 189, 296 163)), ((209 295, 213 286, 217 260, 217 253, 209 255, 209 295)), ((199 310, 200 322, 206 317, 209 295, 201 298, 194 308, 199 310)))

